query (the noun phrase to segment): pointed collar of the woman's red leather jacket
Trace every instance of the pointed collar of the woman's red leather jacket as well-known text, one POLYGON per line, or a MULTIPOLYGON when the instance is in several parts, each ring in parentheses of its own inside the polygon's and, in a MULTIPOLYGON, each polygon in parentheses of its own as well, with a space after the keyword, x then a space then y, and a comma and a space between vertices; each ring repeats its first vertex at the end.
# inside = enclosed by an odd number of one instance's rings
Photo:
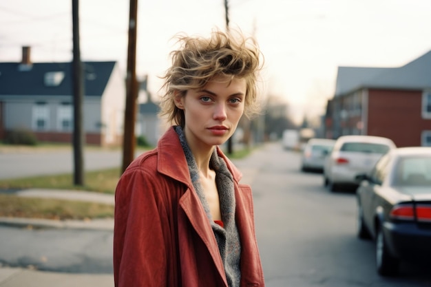
MULTIPOLYGON (((227 164, 227 168, 231 171, 233 180, 238 183, 242 178, 242 173, 233 165, 229 158, 224 156, 224 153, 219 147, 216 148, 218 156, 223 158, 227 164)), ((160 138, 157 144, 157 149, 158 172, 183 182, 190 187, 191 180, 189 169, 187 168, 187 160, 174 127, 169 127, 169 130, 162 136, 162 138, 160 138)))

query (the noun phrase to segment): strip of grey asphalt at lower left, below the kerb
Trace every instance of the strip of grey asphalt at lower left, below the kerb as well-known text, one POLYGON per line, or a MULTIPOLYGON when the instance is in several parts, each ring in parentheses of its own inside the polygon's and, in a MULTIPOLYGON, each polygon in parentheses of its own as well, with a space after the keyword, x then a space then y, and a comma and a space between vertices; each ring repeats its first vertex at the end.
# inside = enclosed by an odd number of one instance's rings
POLYGON ((112 273, 112 231, 0 226, 0 262, 61 273, 112 273))

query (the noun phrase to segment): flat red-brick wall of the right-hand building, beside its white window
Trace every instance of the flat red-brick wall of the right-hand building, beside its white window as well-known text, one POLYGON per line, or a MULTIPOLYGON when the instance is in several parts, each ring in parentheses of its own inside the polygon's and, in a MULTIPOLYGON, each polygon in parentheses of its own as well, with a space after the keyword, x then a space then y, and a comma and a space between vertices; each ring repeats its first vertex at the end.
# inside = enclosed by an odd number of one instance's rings
POLYGON ((369 89, 369 136, 384 136, 397 147, 420 146, 421 132, 431 129, 431 120, 421 118, 421 91, 369 89))

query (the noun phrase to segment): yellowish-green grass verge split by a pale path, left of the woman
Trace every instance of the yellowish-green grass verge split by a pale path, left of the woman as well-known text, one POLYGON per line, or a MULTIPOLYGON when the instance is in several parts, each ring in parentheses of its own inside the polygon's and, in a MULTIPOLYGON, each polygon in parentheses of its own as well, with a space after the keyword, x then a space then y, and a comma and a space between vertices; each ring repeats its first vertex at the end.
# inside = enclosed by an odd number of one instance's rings
MULTIPOLYGON (((84 190, 114 194, 120 178, 120 168, 87 171, 85 185, 75 186, 72 174, 37 176, 0 180, 0 189, 65 189, 84 190)), ((114 217, 114 206, 93 202, 56 200, 49 198, 21 198, 8 193, 0 193, 0 217, 27 217, 51 220, 86 220, 114 217)))

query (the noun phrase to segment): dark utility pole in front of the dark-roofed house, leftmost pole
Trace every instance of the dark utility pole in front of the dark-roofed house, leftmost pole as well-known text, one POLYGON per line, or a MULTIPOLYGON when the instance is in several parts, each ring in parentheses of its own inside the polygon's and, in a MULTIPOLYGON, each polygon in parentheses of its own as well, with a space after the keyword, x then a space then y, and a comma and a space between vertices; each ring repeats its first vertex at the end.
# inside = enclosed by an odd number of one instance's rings
POLYGON ((72 0, 72 29, 73 29, 73 63, 72 63, 72 91, 74 99, 74 184, 84 185, 84 157, 83 146, 85 134, 83 131, 83 64, 81 62, 81 48, 79 44, 79 0, 72 0))

